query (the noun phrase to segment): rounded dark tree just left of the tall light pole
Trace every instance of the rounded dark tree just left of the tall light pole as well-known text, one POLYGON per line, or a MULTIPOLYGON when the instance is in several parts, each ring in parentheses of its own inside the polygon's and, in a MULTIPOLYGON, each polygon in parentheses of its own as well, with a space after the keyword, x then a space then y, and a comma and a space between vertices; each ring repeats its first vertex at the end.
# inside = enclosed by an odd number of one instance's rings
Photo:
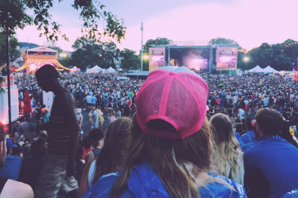
POLYGON ((133 50, 129 50, 124 48, 120 52, 121 60, 121 67, 125 70, 136 70, 140 69, 141 59, 139 56, 136 55, 136 52, 133 50))

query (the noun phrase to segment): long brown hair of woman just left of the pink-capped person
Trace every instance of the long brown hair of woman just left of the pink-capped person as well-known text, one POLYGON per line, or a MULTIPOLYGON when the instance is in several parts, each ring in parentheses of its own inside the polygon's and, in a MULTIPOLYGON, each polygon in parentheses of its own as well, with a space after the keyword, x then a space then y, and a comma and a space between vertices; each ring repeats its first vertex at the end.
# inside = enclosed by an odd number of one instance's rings
POLYGON ((128 132, 131 119, 120 117, 113 121, 105 134, 104 145, 96 160, 96 168, 92 184, 100 176, 119 171, 122 168, 125 146, 131 135, 128 132))

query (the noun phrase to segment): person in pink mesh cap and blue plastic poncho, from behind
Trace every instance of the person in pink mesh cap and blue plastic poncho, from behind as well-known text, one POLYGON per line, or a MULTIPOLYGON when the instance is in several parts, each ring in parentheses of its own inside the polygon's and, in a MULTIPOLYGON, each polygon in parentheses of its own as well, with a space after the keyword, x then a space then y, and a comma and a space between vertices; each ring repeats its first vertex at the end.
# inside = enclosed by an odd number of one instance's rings
POLYGON ((136 95, 123 169, 100 177, 83 197, 246 197, 241 184, 210 172, 207 95, 207 83, 186 67, 151 72, 136 95))

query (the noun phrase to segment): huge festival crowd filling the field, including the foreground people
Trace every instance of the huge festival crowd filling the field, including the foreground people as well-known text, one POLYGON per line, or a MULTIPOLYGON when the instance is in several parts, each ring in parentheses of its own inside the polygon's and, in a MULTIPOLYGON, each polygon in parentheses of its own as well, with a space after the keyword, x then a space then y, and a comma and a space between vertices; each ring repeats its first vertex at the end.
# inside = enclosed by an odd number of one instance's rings
POLYGON ((6 138, 1 127, 1 195, 23 189, 14 196, 295 196, 292 77, 200 77, 171 66, 145 81, 122 76, 58 74, 49 65, 36 76, 15 76, 26 122, 14 123, 6 138), (55 94, 51 112, 42 90, 55 94))

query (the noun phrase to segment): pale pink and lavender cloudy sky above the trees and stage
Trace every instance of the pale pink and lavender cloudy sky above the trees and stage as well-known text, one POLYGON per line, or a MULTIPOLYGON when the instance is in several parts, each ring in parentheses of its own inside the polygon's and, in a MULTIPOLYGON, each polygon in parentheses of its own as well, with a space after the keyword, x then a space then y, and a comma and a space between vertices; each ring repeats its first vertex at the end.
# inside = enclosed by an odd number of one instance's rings
MULTIPOLYGON (((55 3, 50 10, 52 20, 62 25, 57 45, 73 51, 72 44, 81 36, 82 20, 71 6, 72 0, 55 3)), ((280 43, 288 38, 298 40, 297 0, 103 0, 106 10, 124 19, 125 40, 117 44, 139 52, 141 22, 144 44, 148 39, 166 37, 171 40, 210 40, 215 37, 234 39, 247 50, 261 45, 280 43)), ((30 13, 30 11, 28 11, 30 13)), ((103 26, 103 21, 99 22, 103 26)), ((17 30, 20 42, 43 45, 35 26, 17 30)))

